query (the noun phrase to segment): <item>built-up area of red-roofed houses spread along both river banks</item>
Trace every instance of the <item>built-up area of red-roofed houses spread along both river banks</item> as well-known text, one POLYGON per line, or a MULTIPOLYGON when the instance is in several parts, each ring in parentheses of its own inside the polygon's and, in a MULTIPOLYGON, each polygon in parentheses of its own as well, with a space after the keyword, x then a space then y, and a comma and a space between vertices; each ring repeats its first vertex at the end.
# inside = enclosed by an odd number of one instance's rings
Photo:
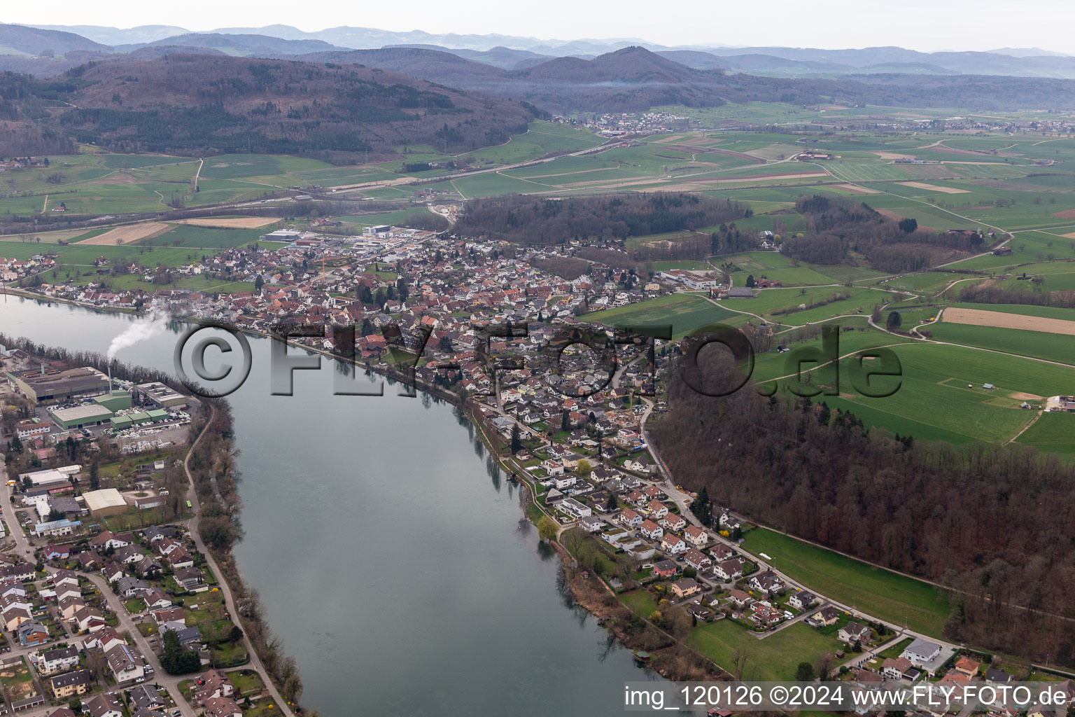
MULTIPOLYGON (((644 617, 658 625, 664 615, 682 610, 692 625, 722 621, 742 631, 736 634, 757 641, 771 640, 800 623, 808 626, 833 645, 813 677, 862 684, 891 679, 906 686, 923 680, 947 685, 1027 677, 1003 669, 993 656, 915 632, 812 591, 789 578, 764 554, 742 547, 743 535, 755 528, 747 520, 712 505, 704 493, 690 493, 668 479, 659 455, 650 450, 645 425, 650 414, 664 411, 662 372, 678 350, 676 345, 660 340, 616 343, 613 330, 594 327, 579 316, 683 288, 745 299, 755 296, 752 287, 725 286, 719 273, 675 269, 657 272, 647 283, 633 272, 597 261, 589 261, 586 273, 570 279, 542 268, 571 256, 571 242, 558 253, 388 226, 371 228, 349 241, 293 229, 262 239, 281 246, 226 249, 169 270, 252 282, 253 291, 210 293, 160 287, 111 291, 92 282, 84 286, 41 283, 32 291, 48 300, 212 319, 254 333, 269 333, 288 324, 355 327, 353 336, 343 334, 346 344, 329 331, 292 341, 473 406, 472 417, 485 428, 493 453, 503 456, 511 478, 533 491, 528 517, 540 529, 550 520, 553 537, 574 543, 575 550, 601 556, 607 571, 587 574, 586 579, 606 582, 632 607, 643 606, 643 613, 648 613, 644 617), (592 350, 574 352, 573 343, 586 343, 592 350)), ((762 248, 769 248, 769 241, 770 236, 759 235, 762 248)), ((46 276, 46 260, 10 266, 9 271, 24 277, 34 272, 46 276)), ((150 283, 158 271, 131 270, 150 283)), ((102 264, 99 271, 104 275, 110 270, 102 264)), ((762 282, 756 285, 760 289, 779 286, 762 282)), ((173 396, 167 386, 117 383, 92 370, 45 365, 25 354, 6 354, 9 389, 35 404, 33 415, 24 417, 15 430, 20 441, 30 442, 30 450, 42 451, 35 454, 39 460, 57 462, 69 439, 115 442, 119 450, 121 443, 133 441, 137 450, 149 454, 182 448, 183 427, 189 422, 188 397, 173 396), (70 371, 82 372, 77 377, 92 384, 85 395, 34 393, 37 386, 47 385, 54 376, 73 381, 66 374, 70 371), (54 405, 37 405, 42 400, 54 405), (147 430, 155 432, 140 433, 147 430)), ((25 517, 8 513, 4 517, 14 535, 37 551, 42 568, 18 568, 19 561, 14 560, 0 570, 33 569, 12 574, 16 579, 25 576, 31 583, 41 582, 42 588, 54 588, 57 579, 74 570, 87 596, 102 579, 112 586, 106 590, 114 596, 97 589, 104 596, 97 604, 57 604, 61 612, 52 623, 38 620, 34 605, 27 605, 29 616, 43 630, 31 640, 61 639, 57 625, 95 635, 115 631, 116 621, 123 628, 126 620, 133 646, 109 642, 106 649, 124 648, 125 654, 133 657, 137 653, 143 662, 153 662, 164 649, 162 635, 168 634, 173 646, 177 643, 178 649, 197 654, 205 668, 242 664, 243 656, 235 648, 242 631, 213 598, 217 578, 204 571, 197 539, 163 524, 144 530, 111 530, 109 516, 101 513, 145 510, 156 517, 152 512, 160 511, 174 492, 167 485, 169 471, 157 465, 154 462, 146 471, 147 481, 127 486, 131 490, 124 492, 112 487, 89 491, 75 487, 75 477, 89 481, 80 464, 19 474, 9 490, 22 488, 16 499, 22 504, 13 510, 25 517), (72 497, 73 492, 81 494, 72 497), (28 536, 23 535, 24 528, 28 536), (110 612, 112 597, 123 605, 110 612), (197 617, 191 619, 192 615, 197 617), (233 630, 239 635, 232 635, 233 630)), ((171 517, 182 517, 182 504, 175 513, 171 517)), ((39 612, 41 606, 37 606, 39 612)), ((86 664, 94 650, 105 648, 99 639, 87 640, 77 654, 80 664, 86 664)), ((18 649, 29 657, 31 646, 18 649)), ((813 662, 815 657, 803 655, 802 659, 813 662)), ((645 659, 639 656, 640 662, 645 659)), ((146 678, 143 664, 123 670, 127 671, 123 675, 142 670, 133 679, 146 678)), ((84 666, 81 672, 91 670, 84 666)), ((212 684, 242 682, 227 673, 206 675, 201 679, 212 684)), ((116 685, 130 683, 116 675, 112 679, 116 685)), ((88 675, 85 683, 82 692, 74 688, 75 696, 98 689, 88 675)), ((138 689, 146 689, 143 683, 137 684, 138 689)), ((1072 683, 1065 685, 1075 694, 1072 683)), ((104 685, 100 688, 104 690, 104 685)), ((190 692, 177 683, 175 689, 183 698, 190 692)), ((205 707, 205 714, 214 717, 252 714, 245 708, 250 703, 243 703, 242 709, 235 696, 245 698, 257 687, 233 685, 231 689, 211 698, 199 698, 195 690, 191 704, 205 707), (217 701, 211 707, 207 700, 217 701)), ((183 708, 175 690, 159 699, 166 707, 174 703, 183 708)), ((1012 705, 995 716, 1019 713, 1012 705)), ((91 714, 111 713, 91 709, 91 714)), ((945 713, 923 704, 919 714, 941 717, 945 713)))

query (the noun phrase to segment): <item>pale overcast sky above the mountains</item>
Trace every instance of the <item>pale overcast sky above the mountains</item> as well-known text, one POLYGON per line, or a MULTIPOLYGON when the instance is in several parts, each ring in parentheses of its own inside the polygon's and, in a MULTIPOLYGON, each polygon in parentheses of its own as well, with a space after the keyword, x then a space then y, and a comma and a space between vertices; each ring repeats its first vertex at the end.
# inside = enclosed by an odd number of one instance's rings
POLYGON ((541 39, 641 38, 664 45, 784 45, 985 51, 1042 47, 1075 54, 1071 0, 404 0, 403 2, 219 2, 53 0, 5 2, 0 19, 25 25, 175 25, 220 27, 291 25, 316 31, 348 25, 427 32, 498 32, 541 39))

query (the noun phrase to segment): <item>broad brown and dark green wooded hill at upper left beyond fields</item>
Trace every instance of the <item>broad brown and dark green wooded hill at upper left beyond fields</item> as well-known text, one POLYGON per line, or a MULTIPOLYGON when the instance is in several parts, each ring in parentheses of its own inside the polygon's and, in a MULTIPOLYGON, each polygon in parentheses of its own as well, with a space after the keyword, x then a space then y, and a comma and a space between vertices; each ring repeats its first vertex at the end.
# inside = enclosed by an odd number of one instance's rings
POLYGON ((118 152, 389 157, 400 145, 469 152, 533 114, 373 68, 221 55, 87 63, 52 82, 0 77, 2 119, 118 152))

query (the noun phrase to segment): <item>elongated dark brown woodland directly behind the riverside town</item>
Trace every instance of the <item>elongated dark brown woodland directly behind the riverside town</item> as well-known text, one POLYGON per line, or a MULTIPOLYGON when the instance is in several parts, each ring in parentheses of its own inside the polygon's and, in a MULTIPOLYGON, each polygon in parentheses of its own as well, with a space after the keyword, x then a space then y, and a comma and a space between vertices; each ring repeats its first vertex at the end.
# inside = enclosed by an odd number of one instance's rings
POLYGON ((572 240, 622 242, 630 236, 699 229, 742 218, 745 205, 686 192, 546 199, 505 195, 467 202, 456 224, 461 235, 515 244, 572 240))

